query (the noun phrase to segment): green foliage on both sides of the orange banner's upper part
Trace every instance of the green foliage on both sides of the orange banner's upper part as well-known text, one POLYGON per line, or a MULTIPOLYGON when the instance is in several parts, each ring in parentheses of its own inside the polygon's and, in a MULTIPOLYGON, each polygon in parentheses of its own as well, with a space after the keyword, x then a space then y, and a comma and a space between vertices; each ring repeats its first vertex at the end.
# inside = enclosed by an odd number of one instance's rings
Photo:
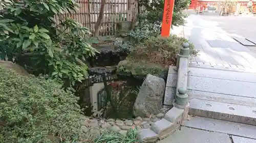
MULTIPOLYGON (((160 26, 163 18, 164 0, 153 0, 152 3, 148 5, 149 2, 149 0, 140 1, 140 6, 143 5, 146 7, 145 19, 151 23, 158 23, 160 26)), ((174 2, 172 26, 184 25, 184 18, 186 18, 187 15, 183 13, 183 10, 185 10, 189 4, 189 0, 177 0, 174 2)))

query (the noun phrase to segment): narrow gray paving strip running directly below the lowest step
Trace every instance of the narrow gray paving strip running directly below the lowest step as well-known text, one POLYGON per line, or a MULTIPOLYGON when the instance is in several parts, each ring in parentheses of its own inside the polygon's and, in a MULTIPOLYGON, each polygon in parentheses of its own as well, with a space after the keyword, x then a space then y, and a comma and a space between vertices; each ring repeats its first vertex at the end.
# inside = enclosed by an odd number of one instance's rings
POLYGON ((188 121, 183 121, 182 125, 196 129, 221 132, 256 139, 256 127, 241 123, 234 123, 202 117, 193 117, 190 118, 190 120, 188 121))

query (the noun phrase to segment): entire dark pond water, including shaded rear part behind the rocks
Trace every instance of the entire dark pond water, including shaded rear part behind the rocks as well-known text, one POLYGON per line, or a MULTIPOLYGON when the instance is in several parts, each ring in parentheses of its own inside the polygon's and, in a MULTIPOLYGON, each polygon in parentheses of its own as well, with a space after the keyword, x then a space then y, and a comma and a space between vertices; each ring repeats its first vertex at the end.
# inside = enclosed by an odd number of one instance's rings
POLYGON ((89 59, 89 74, 100 75, 93 84, 81 84, 76 89, 79 104, 86 116, 103 118, 133 118, 133 106, 144 77, 116 75, 116 65, 125 59, 125 51, 116 51, 111 45, 97 45, 100 51, 89 59), (108 75, 103 82, 103 74, 108 75))

